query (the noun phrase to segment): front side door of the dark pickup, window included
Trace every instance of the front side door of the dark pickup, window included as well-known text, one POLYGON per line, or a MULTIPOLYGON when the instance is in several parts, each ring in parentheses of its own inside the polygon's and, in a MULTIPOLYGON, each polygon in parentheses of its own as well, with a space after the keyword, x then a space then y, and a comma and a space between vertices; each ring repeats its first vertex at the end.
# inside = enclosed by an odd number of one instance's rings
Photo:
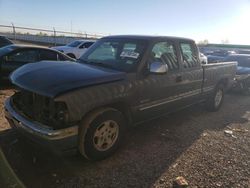
POLYGON ((149 73, 138 81, 140 96, 137 100, 136 121, 160 116, 178 108, 178 101, 185 91, 182 87, 181 58, 177 50, 177 43, 171 40, 152 44, 147 66, 160 62, 168 67, 168 71, 156 74, 148 70, 149 73))

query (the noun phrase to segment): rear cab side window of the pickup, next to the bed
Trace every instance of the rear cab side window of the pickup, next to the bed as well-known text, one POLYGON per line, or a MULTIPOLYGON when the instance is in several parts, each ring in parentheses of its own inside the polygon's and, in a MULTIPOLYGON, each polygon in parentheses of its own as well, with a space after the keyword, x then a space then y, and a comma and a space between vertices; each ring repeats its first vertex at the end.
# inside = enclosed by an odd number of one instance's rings
POLYGON ((184 68, 192 68, 199 66, 198 57, 195 53, 193 45, 190 43, 181 43, 180 46, 184 68))

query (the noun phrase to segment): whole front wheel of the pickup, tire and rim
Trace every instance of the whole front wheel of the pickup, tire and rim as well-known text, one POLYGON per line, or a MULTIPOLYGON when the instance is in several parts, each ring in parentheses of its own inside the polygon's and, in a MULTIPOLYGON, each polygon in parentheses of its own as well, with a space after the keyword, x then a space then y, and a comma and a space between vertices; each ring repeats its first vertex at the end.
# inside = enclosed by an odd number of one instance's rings
POLYGON ((113 108, 92 112, 79 129, 79 152, 90 160, 101 160, 112 155, 125 132, 123 114, 113 108))

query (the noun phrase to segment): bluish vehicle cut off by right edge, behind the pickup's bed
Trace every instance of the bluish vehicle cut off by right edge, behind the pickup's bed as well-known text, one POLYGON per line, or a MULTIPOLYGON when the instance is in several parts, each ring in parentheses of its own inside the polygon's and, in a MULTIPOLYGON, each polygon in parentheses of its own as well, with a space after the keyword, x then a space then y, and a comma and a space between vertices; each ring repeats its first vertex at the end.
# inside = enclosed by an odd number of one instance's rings
POLYGON ((236 84, 234 89, 250 94, 250 54, 235 54, 225 58, 225 61, 237 61, 236 84))

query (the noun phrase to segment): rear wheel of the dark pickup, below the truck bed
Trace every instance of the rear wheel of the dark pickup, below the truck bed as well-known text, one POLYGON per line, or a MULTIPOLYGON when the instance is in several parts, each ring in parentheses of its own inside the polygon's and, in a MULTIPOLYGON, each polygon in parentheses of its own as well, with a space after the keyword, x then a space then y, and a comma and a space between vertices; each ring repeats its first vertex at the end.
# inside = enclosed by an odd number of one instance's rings
POLYGON ((216 86, 213 94, 207 100, 207 109, 209 111, 218 111, 224 100, 224 86, 222 84, 216 86))

